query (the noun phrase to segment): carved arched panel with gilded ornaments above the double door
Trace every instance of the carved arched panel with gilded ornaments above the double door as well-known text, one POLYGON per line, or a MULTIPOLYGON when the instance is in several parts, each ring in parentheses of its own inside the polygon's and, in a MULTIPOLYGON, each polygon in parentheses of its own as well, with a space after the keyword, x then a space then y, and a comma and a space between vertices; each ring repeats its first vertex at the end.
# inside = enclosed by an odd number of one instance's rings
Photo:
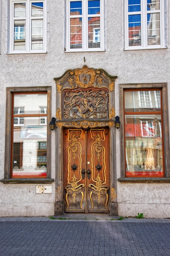
POLYGON ((56 126, 113 126, 116 78, 102 69, 88 68, 86 65, 67 70, 62 76, 54 78, 57 94, 61 93, 56 126))

